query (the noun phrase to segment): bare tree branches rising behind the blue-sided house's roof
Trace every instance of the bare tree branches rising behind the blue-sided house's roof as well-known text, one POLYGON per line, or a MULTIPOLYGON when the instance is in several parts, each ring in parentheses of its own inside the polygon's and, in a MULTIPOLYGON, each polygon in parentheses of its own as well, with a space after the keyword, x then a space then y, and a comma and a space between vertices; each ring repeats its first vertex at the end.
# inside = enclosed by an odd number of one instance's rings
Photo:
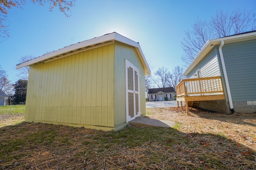
POLYGON ((226 37, 245 31, 256 30, 255 13, 234 10, 231 14, 218 10, 210 21, 196 20, 192 31, 185 31, 181 42, 184 55, 182 61, 188 66, 209 39, 226 37))

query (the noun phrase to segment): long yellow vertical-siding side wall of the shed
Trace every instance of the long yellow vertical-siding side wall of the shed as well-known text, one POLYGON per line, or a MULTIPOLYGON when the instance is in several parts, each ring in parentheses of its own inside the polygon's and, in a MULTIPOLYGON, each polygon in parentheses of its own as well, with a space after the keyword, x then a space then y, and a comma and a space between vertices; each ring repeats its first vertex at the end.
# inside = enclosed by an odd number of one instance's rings
POLYGON ((25 120, 114 127, 114 44, 30 66, 25 120))

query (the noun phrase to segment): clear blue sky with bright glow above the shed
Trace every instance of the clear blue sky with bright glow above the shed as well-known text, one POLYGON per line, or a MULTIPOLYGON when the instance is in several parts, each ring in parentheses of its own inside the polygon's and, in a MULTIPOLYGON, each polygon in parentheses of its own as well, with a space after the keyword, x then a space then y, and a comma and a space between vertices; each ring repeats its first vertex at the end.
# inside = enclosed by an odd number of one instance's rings
MULTIPOLYGON (((106 33, 117 32, 140 43, 155 68, 182 66, 181 41, 195 20, 210 20, 216 10, 252 10, 256 0, 76 0, 66 16, 30 2, 8 10, 10 37, 0 43, 0 65, 13 83, 16 64, 25 55, 39 57, 106 33)), ((2 39, 1 39, 2 40, 2 39)))

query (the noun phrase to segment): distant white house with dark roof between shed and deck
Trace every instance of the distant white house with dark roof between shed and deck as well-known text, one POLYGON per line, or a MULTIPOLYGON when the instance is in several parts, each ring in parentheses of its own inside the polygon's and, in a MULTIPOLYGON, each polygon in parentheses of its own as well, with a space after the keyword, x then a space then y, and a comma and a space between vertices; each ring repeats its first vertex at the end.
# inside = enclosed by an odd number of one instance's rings
POLYGON ((150 88, 148 89, 149 101, 174 100, 174 88, 150 88))

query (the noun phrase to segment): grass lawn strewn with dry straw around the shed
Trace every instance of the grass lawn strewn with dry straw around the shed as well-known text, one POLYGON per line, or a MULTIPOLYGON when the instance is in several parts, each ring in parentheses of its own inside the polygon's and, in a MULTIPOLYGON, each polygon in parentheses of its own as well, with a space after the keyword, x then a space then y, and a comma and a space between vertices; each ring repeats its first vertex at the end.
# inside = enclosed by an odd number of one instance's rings
POLYGON ((0 106, 0 169, 256 169, 256 114, 147 108, 175 128, 120 131, 25 123, 24 106, 0 106))

